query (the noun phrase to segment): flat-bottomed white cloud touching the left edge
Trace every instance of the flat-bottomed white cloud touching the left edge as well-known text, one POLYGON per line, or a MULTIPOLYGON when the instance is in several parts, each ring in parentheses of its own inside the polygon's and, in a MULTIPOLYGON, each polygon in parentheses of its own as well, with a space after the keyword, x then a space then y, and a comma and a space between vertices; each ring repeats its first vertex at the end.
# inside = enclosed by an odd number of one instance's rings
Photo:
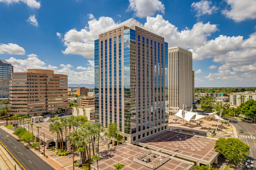
POLYGON ((25 50, 17 44, 1 44, 0 43, 0 54, 17 54, 17 55, 25 55, 25 50))

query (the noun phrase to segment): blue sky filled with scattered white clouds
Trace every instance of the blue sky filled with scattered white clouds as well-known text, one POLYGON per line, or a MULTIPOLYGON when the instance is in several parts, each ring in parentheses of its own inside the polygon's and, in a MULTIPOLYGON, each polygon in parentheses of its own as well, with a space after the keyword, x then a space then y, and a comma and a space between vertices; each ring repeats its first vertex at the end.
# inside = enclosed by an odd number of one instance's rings
POLYGON ((93 84, 94 40, 131 17, 193 52, 196 87, 256 86, 255 0, 0 0, 0 58, 93 84))

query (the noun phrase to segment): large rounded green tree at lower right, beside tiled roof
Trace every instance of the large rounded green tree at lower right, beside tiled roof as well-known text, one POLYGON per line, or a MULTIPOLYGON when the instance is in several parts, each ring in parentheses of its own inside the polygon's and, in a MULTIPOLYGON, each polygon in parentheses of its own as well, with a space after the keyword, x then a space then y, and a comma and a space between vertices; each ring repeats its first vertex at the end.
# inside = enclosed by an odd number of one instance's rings
POLYGON ((250 146, 240 141, 239 138, 219 138, 214 149, 235 165, 245 161, 250 153, 250 146))

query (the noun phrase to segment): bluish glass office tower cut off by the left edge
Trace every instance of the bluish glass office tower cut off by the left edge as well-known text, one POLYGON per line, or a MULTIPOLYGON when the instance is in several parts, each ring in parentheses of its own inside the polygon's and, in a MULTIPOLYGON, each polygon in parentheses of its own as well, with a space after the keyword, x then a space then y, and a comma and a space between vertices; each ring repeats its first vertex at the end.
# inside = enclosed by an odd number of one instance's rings
POLYGON ((10 97, 10 80, 13 66, 6 60, 0 60, 0 98, 10 97))

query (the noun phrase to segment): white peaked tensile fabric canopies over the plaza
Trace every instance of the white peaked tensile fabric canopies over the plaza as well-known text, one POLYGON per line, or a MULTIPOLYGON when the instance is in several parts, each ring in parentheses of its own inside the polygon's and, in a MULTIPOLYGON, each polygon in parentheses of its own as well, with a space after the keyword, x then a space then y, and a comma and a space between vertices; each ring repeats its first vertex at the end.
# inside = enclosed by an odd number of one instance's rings
MULTIPOLYGON (((175 116, 178 116, 186 121, 190 121, 192 119, 193 116, 195 116, 195 120, 198 120, 198 119, 201 119, 201 118, 204 118, 206 116, 209 116, 209 117, 215 117, 216 119, 219 119, 219 116, 215 115, 217 112, 219 111, 216 111, 216 112, 213 112, 213 113, 205 113, 205 115, 201 115, 201 113, 197 113, 197 112, 188 112, 188 111, 185 111, 183 109, 180 109, 176 114, 175 116)), ((221 119, 221 118, 220 118, 221 119)), ((195 121, 194 120, 194 121, 195 121)), ((221 119, 221 120, 224 120, 224 119, 221 119)))

